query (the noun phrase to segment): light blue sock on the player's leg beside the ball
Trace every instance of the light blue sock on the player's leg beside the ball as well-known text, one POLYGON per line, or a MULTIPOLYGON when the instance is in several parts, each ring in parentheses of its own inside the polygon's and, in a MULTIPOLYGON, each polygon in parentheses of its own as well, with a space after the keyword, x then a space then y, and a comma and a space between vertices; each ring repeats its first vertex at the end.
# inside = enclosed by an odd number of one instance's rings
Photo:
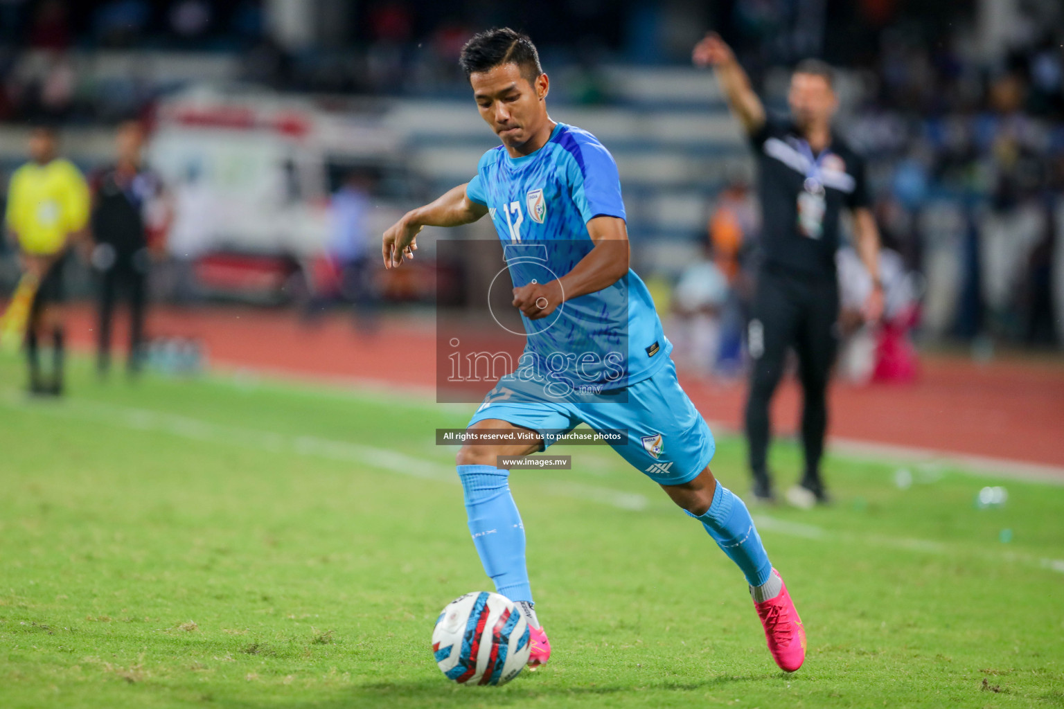
POLYGON ((511 601, 532 603, 525 565, 525 525, 510 494, 509 470, 493 466, 459 466, 465 491, 469 533, 495 590, 511 601))

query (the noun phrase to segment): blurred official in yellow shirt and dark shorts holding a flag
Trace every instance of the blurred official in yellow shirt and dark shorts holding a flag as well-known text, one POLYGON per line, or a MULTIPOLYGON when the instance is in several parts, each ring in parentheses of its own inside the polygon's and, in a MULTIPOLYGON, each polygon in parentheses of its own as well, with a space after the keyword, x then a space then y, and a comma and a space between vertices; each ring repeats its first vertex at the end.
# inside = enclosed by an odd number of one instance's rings
POLYGON ((30 162, 11 176, 7 190, 9 235, 19 249, 22 269, 38 278, 26 333, 30 392, 63 392, 63 266, 71 242, 88 221, 88 186, 69 161, 56 156, 51 126, 30 134, 30 162), (40 376, 38 342, 52 336, 52 376, 40 376))

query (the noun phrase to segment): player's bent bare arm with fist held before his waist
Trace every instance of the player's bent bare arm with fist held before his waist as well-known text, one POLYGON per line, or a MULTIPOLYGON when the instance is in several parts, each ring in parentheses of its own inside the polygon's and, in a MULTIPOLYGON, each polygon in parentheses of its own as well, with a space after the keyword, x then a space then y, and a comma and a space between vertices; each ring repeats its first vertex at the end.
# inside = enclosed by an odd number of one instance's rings
POLYGON ((530 320, 546 318, 564 301, 612 286, 628 273, 628 229, 619 217, 595 217, 587 222, 595 242, 572 270, 556 281, 514 288, 514 307, 530 320))

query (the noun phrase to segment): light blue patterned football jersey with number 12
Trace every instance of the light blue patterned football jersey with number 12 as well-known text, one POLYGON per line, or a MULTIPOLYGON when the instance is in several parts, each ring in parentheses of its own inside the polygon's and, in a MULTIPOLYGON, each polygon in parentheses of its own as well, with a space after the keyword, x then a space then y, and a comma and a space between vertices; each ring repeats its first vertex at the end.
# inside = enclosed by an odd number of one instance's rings
MULTIPOLYGON (((620 176, 587 131, 559 123, 543 148, 513 158, 502 146, 480 159, 466 186, 488 207, 514 286, 565 275, 594 248, 587 222, 625 218, 620 176)), ((613 285, 566 301, 551 316, 521 320, 529 356, 572 387, 626 387, 656 372, 672 344, 646 285, 629 269, 613 285)))

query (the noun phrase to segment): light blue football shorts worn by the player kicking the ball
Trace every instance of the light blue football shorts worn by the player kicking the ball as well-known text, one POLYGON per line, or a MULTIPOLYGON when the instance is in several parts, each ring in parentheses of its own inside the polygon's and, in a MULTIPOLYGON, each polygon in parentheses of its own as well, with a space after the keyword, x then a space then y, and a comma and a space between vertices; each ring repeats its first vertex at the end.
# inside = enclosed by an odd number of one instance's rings
POLYGON ((698 476, 716 451, 713 434, 702 415, 680 388, 671 359, 650 377, 628 387, 627 402, 593 403, 519 401, 498 399, 498 390, 484 399, 469 426, 499 419, 553 438, 586 423, 594 431, 620 429, 624 443, 612 444, 625 460, 659 485, 681 485, 698 476))

